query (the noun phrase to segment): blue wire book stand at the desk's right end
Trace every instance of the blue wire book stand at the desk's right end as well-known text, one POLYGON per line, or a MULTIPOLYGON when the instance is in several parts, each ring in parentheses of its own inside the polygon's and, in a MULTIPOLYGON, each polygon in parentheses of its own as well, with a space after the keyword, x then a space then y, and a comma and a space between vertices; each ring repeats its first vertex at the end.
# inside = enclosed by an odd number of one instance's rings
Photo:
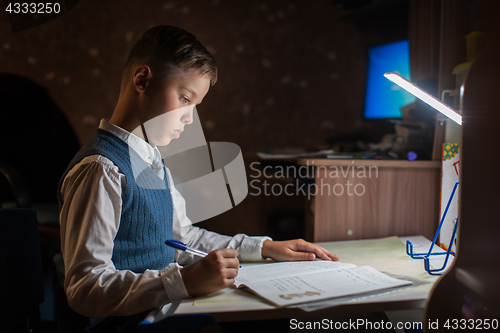
POLYGON ((422 252, 422 253, 413 252, 413 244, 409 240, 406 241, 406 254, 408 254, 413 259, 424 259, 424 268, 427 271, 427 273, 429 273, 430 275, 441 275, 446 267, 446 264, 448 263, 448 259, 450 257, 450 254, 455 255, 455 252, 451 251, 451 247, 453 246, 453 242, 455 241, 455 237, 457 234, 458 218, 453 220, 455 226, 453 227, 453 234, 452 234, 451 239, 450 239, 448 251, 446 251, 446 252, 432 252, 432 249, 434 248, 434 245, 436 244, 437 237, 439 235, 439 232, 441 231, 441 227, 443 226, 443 222, 446 218, 446 214, 448 214, 448 209, 450 208, 451 201, 453 200, 453 197, 455 196, 455 192, 457 190, 458 184, 459 184, 459 182, 456 182, 455 186, 453 186, 453 190, 451 191, 450 199, 448 200, 448 204, 446 205, 446 209, 444 210, 444 214, 441 217, 441 221, 439 222, 438 229, 436 230, 436 234, 434 235, 434 239, 432 240, 432 244, 431 244, 431 247, 429 248, 429 251, 422 252), (443 267, 432 269, 430 264, 429 264, 429 258, 431 256, 440 256, 440 255, 446 255, 443 267))

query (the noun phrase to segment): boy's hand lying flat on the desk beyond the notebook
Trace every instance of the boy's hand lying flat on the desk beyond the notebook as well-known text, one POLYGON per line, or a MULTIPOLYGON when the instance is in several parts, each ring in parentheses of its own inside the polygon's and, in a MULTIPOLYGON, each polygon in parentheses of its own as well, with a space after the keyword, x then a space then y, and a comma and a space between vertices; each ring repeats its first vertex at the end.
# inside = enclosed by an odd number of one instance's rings
POLYGON ((303 239, 289 241, 266 240, 262 244, 262 258, 271 258, 276 261, 315 260, 316 257, 324 260, 339 260, 339 256, 331 254, 319 245, 306 242, 303 239))

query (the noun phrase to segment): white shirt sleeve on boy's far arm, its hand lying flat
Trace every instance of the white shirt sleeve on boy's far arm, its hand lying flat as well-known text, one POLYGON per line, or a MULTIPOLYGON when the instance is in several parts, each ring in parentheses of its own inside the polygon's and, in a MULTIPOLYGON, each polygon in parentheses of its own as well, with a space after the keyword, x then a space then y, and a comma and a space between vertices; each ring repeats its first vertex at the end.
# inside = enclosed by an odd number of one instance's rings
MULTIPOLYGON (((175 188, 170 170, 167 176, 174 203, 174 237, 187 245, 201 251, 210 252, 216 249, 230 248, 238 252, 240 261, 264 261, 262 243, 272 240, 270 237, 247 236, 236 234, 233 237, 221 235, 206 229, 195 227, 186 215, 186 201, 175 188)), ((182 265, 193 263, 200 258, 184 251, 176 251, 176 261, 182 265)))

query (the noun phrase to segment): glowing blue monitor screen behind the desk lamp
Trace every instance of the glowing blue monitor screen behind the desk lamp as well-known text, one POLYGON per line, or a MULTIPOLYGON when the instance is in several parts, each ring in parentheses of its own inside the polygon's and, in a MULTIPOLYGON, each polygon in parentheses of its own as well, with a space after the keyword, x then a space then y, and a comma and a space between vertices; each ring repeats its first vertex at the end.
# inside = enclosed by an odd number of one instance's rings
POLYGON ((415 97, 387 80, 384 73, 397 72, 411 81, 408 40, 371 47, 368 58, 364 117, 401 118, 400 108, 415 102, 415 97))

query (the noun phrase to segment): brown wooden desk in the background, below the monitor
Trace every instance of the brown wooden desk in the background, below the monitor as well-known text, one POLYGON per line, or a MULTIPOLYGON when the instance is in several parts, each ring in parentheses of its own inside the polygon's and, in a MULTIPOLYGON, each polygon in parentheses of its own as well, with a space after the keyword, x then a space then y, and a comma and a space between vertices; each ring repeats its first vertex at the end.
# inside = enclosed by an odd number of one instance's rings
POLYGON ((439 161, 299 159, 297 163, 316 169, 318 193, 306 207, 307 240, 434 236, 439 224, 439 161))

